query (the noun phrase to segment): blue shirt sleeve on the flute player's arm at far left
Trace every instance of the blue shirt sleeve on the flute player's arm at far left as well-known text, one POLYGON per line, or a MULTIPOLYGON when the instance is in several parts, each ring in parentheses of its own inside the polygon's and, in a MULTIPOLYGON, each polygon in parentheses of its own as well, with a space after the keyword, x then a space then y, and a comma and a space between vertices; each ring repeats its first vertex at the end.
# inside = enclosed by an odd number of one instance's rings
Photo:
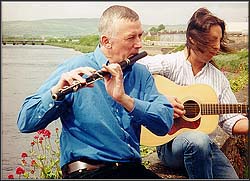
POLYGON ((66 67, 61 64, 35 94, 25 98, 17 119, 17 126, 21 132, 35 132, 59 118, 60 110, 66 105, 62 104, 65 100, 53 100, 50 89, 58 82, 64 71, 66 67))

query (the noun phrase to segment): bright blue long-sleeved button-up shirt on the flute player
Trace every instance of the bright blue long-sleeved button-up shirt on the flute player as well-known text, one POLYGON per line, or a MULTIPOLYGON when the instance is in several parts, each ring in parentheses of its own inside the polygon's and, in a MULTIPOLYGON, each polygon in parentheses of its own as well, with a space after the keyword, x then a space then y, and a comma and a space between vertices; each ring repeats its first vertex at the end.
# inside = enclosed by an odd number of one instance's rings
POLYGON ((108 95, 104 81, 94 88, 82 88, 54 101, 50 89, 64 72, 77 67, 100 70, 107 58, 99 47, 92 53, 66 60, 38 91, 27 97, 19 112, 17 125, 30 133, 45 128, 60 117, 60 165, 82 157, 110 161, 141 161, 141 125, 156 135, 165 135, 173 124, 173 108, 154 84, 144 65, 135 63, 124 70, 124 89, 134 98, 134 109, 124 107, 108 95))

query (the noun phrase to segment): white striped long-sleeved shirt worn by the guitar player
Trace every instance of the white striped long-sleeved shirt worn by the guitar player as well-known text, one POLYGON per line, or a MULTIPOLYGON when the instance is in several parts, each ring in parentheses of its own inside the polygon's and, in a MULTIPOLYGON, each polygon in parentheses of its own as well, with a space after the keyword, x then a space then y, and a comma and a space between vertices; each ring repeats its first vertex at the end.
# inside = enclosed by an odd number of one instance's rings
MULTIPOLYGON (((144 64, 152 74, 163 75, 178 85, 208 84, 215 90, 220 104, 238 103, 229 81, 220 70, 207 63, 200 72, 193 75, 192 65, 187 61, 184 51, 146 56, 137 62, 144 64)), ((219 125, 226 133, 233 136, 232 128, 242 118, 244 116, 241 114, 221 114, 219 125)))

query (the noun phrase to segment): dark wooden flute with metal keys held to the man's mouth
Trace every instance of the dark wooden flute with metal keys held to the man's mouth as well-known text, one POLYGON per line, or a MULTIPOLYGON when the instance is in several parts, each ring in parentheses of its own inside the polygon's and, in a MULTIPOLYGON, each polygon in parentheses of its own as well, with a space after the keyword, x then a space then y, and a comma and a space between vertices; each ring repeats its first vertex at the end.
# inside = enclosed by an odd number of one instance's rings
MULTIPOLYGON (((145 56, 147 56, 147 52, 143 51, 141 53, 133 55, 132 57, 130 57, 126 60, 119 62, 118 64, 121 66, 122 70, 124 70, 126 67, 134 64, 137 60, 139 60, 145 56)), ((74 81, 73 85, 63 87, 57 93, 53 94, 52 98, 54 100, 63 100, 67 94, 72 93, 72 92, 76 92, 80 88, 86 87, 87 85, 92 84, 93 82, 95 82, 99 79, 103 79, 103 77, 108 75, 108 74, 109 74, 109 72, 104 72, 104 71, 98 70, 95 73, 93 73, 91 76, 87 77, 85 83, 80 83, 79 81, 74 81)))

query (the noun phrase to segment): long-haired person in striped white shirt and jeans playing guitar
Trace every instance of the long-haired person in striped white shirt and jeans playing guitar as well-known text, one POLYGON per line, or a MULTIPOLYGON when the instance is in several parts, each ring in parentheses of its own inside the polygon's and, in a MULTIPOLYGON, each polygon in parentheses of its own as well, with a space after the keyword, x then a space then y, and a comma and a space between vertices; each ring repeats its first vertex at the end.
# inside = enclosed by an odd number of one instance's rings
MULTIPOLYGON (((163 75, 179 85, 207 84, 215 90, 220 104, 236 104, 229 81, 211 60, 218 52, 229 51, 225 35, 225 22, 206 8, 200 8, 189 21, 184 50, 147 56, 139 62, 145 64, 151 73, 163 75)), ((177 97, 168 99, 174 107, 174 118, 186 114, 184 105, 177 97)), ((248 133, 247 117, 224 114, 219 118, 219 125, 230 136, 248 133)), ((157 153, 166 166, 184 169, 192 179, 238 178, 223 152, 201 131, 185 131, 172 141, 158 146, 157 153)))

